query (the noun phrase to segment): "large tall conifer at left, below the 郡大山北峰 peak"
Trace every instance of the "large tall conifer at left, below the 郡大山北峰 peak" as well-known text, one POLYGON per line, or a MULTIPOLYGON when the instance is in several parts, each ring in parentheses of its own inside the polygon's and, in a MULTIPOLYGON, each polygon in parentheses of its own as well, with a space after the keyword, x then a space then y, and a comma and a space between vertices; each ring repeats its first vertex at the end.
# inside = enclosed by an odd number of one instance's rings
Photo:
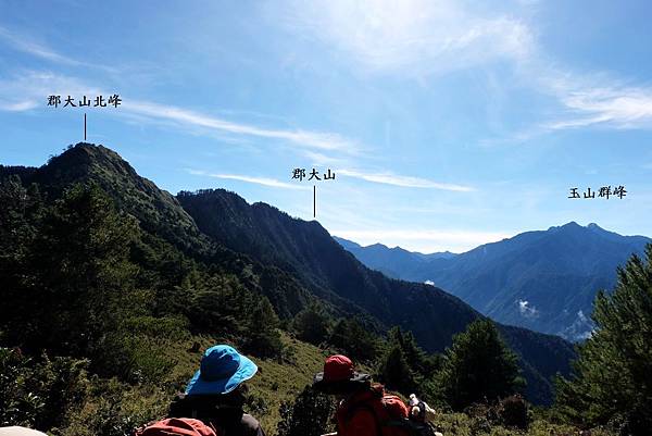
POLYGON ((147 294, 135 287, 129 261, 139 228, 97 186, 75 186, 43 212, 28 247, 22 316, 13 339, 27 348, 90 357, 100 372, 126 364, 120 344, 125 321, 140 314, 147 294))

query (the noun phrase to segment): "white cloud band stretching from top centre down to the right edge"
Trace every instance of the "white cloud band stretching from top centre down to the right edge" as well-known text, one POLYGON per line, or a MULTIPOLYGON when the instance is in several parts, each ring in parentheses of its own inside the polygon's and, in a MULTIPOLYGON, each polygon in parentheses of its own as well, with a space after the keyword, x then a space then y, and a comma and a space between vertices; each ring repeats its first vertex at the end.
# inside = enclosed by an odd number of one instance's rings
MULTIPOLYGON (((522 0, 514 13, 531 10, 522 0)), ((454 0, 287 0, 275 17, 291 32, 317 39, 366 71, 423 78, 487 64, 512 63, 522 85, 556 100, 555 119, 507 134, 524 142, 554 130, 601 126, 652 128, 652 88, 626 86, 601 72, 569 74, 552 65, 536 30, 515 15, 480 12, 454 0)), ((512 83, 506 84, 512 88, 512 83)), ((485 139, 481 144, 504 140, 485 139)))

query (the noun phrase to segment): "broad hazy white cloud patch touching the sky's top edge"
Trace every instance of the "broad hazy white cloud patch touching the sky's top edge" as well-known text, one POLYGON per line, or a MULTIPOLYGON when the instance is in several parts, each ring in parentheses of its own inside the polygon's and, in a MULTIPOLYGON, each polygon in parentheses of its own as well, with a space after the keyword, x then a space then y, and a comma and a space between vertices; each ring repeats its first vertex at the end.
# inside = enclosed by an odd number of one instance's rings
POLYGON ((371 71, 431 73, 528 54, 527 26, 480 16, 454 0, 289 0, 275 17, 371 71), (280 15, 280 16, 279 16, 280 15))

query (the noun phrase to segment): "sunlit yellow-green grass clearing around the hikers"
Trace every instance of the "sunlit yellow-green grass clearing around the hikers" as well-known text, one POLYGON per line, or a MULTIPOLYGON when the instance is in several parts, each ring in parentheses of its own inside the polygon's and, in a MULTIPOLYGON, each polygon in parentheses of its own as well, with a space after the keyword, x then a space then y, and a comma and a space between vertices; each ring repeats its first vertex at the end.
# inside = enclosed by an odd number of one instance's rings
MULTIPOLYGON (((283 359, 256 359, 259 373, 248 382, 250 401, 246 410, 254 415, 266 435, 276 435, 280 420, 279 407, 284 401, 291 402, 311 384, 316 372, 322 371, 324 359, 330 353, 313 345, 297 340, 287 334, 281 336, 285 346, 283 359)), ((201 360, 202 351, 222 341, 205 336, 195 336, 183 341, 160 341, 152 353, 173 362, 173 366, 159 387, 148 385, 126 386, 116 381, 103 386, 101 397, 90 396, 80 410, 70 419, 70 425, 61 435, 92 435, 93 428, 106 425, 139 425, 165 414, 176 391, 183 390, 201 360), (199 350, 193 348, 199 344, 199 350), (105 389, 105 390, 104 390, 105 389), (109 395, 106 394, 109 393, 109 395), (104 420, 104 423, 99 421, 104 420), (89 422, 93 423, 89 425, 89 422)), ((371 369, 365 369, 371 371, 371 369)), ((90 393, 92 394, 92 393, 90 393)), ((505 428, 490 423, 484 416, 469 416, 465 413, 440 413, 437 425, 444 435, 459 436, 570 436, 579 428, 553 424, 541 416, 535 416, 527 431, 505 428)), ((593 429, 592 436, 613 436, 605 429, 593 429)))

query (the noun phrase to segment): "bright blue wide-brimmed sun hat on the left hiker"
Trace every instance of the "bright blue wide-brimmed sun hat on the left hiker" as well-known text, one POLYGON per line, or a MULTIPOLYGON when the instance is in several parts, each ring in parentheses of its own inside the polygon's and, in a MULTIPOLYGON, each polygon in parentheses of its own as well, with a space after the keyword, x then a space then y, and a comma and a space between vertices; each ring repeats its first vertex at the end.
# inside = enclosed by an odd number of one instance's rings
POLYGON ((209 348, 201 358, 199 371, 188 382, 186 395, 223 395, 253 377, 258 366, 227 345, 209 348))

